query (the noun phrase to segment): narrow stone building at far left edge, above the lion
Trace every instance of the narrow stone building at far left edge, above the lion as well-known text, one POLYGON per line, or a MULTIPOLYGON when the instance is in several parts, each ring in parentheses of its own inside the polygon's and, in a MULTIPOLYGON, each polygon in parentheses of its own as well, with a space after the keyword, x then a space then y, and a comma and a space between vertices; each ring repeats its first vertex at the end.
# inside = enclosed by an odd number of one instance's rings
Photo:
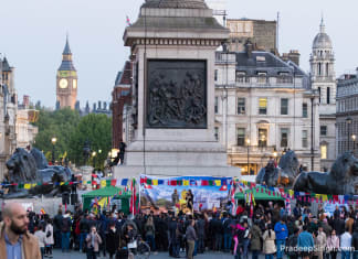
POLYGON ((17 148, 18 99, 14 88, 14 68, 0 58, 0 181, 7 173, 6 162, 17 148))

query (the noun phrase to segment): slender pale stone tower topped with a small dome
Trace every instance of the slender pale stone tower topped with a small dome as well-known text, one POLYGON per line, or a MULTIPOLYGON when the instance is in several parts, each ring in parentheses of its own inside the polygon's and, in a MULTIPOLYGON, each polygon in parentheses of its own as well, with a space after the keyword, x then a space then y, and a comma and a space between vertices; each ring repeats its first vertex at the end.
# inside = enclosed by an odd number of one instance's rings
POLYGON ((336 160, 336 73, 331 41, 322 19, 309 58, 312 89, 319 95, 320 171, 328 171, 336 160))

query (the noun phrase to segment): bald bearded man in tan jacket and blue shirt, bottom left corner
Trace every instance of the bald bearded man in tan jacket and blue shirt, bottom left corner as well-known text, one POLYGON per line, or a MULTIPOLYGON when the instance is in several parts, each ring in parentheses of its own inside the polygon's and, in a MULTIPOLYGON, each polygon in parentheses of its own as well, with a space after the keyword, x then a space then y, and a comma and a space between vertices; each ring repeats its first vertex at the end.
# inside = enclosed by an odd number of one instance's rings
POLYGON ((41 259, 39 240, 28 231, 29 218, 19 203, 2 208, 0 257, 3 259, 41 259))

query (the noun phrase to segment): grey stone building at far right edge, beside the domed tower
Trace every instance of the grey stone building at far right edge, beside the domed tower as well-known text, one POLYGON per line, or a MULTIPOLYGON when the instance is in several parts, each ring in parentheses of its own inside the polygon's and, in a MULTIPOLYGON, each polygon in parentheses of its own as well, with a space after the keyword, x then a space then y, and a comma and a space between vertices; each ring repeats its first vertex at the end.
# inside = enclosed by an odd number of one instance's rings
POLYGON ((337 155, 346 151, 358 153, 358 68, 337 84, 337 155))

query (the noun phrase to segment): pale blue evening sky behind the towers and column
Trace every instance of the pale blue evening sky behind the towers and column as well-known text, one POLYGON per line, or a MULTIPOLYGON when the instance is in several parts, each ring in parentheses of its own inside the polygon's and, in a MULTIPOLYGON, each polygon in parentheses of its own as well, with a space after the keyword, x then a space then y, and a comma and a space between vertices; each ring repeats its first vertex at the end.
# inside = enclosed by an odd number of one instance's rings
MULTIPOLYGON (((126 17, 134 22, 143 2, 0 0, 0 53, 15 67, 19 100, 29 95, 33 102, 55 106, 56 71, 69 33, 81 107, 87 100, 110 101, 116 75, 129 55, 123 43, 126 17)), ((337 77, 358 66, 357 8, 357 0, 227 0, 231 19, 276 20, 280 12, 280 53, 298 50, 305 71, 309 69, 312 42, 324 14, 337 77)))

